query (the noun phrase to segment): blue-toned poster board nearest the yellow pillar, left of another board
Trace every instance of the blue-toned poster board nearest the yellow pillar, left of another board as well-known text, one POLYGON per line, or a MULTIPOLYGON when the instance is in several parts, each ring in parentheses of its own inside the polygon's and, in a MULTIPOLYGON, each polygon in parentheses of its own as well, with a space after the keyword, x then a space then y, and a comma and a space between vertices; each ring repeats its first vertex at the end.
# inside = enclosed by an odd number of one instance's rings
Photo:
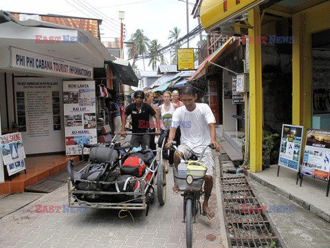
POLYGON ((298 172, 303 130, 303 126, 283 124, 278 165, 298 172))

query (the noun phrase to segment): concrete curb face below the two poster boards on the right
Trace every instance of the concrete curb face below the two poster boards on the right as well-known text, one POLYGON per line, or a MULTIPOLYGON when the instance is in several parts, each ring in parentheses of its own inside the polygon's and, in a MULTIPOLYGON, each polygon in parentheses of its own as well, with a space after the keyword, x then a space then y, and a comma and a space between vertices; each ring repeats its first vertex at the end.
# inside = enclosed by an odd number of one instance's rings
POLYGON ((311 213, 316 214, 318 217, 327 220, 328 222, 330 222, 330 215, 325 213, 325 211, 322 211, 322 209, 315 207, 314 205, 311 205, 307 202, 305 202, 305 200, 302 200, 292 194, 289 194, 288 192, 286 192, 284 189, 280 189, 270 183, 268 183, 267 181, 259 178, 258 176, 255 176, 254 174, 250 173, 250 171, 248 171, 248 176, 249 178, 251 178, 252 180, 255 180, 257 183, 260 183, 261 185, 264 185, 265 187, 268 187, 270 189, 272 189, 272 191, 281 194, 281 196, 284 196, 285 198, 288 198, 289 200, 292 200, 294 203, 297 203, 298 205, 300 205, 300 207, 303 207, 303 209, 307 210, 307 211, 311 211, 311 213))

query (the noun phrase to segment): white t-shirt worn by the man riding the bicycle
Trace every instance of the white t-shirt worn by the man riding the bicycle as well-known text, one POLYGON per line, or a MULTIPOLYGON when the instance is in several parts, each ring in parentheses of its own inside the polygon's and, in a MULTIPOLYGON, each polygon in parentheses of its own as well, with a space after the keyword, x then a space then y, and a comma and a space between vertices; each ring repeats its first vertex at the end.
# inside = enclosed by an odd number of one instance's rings
MULTIPOLYGON (((193 111, 188 111, 186 106, 178 107, 172 118, 172 127, 180 126, 181 144, 188 145, 190 149, 211 142, 209 123, 215 123, 215 118, 206 103, 196 103, 193 111)), ((200 153, 203 148, 196 147, 194 151, 200 153)))

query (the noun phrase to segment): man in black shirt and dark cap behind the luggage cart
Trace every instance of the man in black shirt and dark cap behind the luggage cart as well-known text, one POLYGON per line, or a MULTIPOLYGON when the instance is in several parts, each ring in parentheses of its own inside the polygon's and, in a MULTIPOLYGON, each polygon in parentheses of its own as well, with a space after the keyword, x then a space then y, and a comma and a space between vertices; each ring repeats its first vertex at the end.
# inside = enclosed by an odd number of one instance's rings
POLYGON ((159 116, 157 116, 153 107, 148 103, 144 103, 144 92, 142 90, 137 90, 134 92, 134 101, 135 103, 129 104, 125 109, 124 118, 122 119, 122 136, 126 136, 125 125, 127 116, 131 115, 132 118, 132 132, 131 145, 133 147, 142 147, 146 149, 149 145, 149 136, 148 133, 152 123, 149 123, 149 116, 155 116, 156 118, 156 135, 160 134, 159 129, 159 116), (139 133, 134 135, 134 133, 139 133))

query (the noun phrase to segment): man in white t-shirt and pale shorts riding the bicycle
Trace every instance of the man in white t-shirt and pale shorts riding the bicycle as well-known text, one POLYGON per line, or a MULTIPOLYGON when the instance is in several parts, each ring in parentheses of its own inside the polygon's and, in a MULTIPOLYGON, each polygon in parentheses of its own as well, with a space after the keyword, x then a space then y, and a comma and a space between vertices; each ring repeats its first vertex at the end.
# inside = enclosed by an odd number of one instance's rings
MULTIPOLYGON (((166 148, 169 148, 170 145, 172 145, 177 126, 180 126, 181 145, 179 145, 178 149, 181 156, 184 156, 186 159, 189 155, 201 155, 201 152, 204 148, 203 145, 212 143, 216 151, 221 149, 221 146, 216 141, 216 132, 214 126, 215 118, 212 110, 206 103, 195 103, 196 99, 197 94, 195 92, 195 88, 192 87, 192 85, 186 85, 182 89, 182 101, 184 106, 178 107, 173 114, 172 126, 168 136, 168 143, 166 143, 166 148)), ((204 163, 208 168, 205 176, 204 201, 202 210, 203 214, 206 215, 208 220, 213 220, 215 214, 208 207, 208 200, 211 196, 213 187, 212 174, 214 167, 214 161, 210 148, 206 149, 201 162, 204 163)), ((176 168, 179 163, 179 155, 175 153, 174 165, 176 168)), ((174 186, 172 192, 173 194, 179 194, 179 189, 174 186)))

